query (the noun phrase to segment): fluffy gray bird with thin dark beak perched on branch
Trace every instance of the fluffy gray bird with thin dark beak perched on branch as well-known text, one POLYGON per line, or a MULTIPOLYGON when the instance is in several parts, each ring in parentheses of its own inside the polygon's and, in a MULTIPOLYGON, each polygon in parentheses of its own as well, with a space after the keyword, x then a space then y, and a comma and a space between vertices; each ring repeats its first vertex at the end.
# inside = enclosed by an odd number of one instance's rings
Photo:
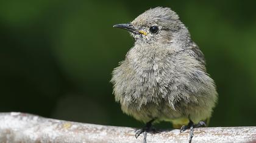
POLYGON ((187 27, 175 12, 163 7, 113 27, 128 30, 135 39, 113 70, 111 82, 124 113, 146 123, 136 138, 151 131, 153 122, 171 121, 181 132, 190 128, 192 139, 193 128, 204 126, 210 118, 218 94, 187 27))

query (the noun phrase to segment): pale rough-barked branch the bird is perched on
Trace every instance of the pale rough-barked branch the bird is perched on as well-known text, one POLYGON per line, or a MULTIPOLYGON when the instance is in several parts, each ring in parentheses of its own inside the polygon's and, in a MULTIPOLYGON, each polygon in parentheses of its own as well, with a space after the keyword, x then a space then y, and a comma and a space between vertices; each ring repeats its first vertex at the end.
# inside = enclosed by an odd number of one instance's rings
MULTIPOLYGON (((148 133, 149 142, 188 142, 189 130, 148 133)), ((256 127, 195 128, 192 142, 255 142, 256 127)), ((26 113, 0 113, 0 142, 143 142, 135 128, 113 127, 57 119, 26 113)))

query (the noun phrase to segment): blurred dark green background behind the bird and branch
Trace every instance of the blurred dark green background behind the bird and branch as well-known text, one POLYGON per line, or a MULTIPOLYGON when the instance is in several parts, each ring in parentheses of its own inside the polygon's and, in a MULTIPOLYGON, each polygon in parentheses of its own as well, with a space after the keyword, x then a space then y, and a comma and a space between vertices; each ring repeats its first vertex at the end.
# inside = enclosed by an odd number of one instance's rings
POLYGON ((219 93, 210 126, 256 125, 256 1, 238 0, 0 1, 0 111, 141 127, 112 95, 133 45, 112 25, 157 6, 176 11, 205 54, 219 93))

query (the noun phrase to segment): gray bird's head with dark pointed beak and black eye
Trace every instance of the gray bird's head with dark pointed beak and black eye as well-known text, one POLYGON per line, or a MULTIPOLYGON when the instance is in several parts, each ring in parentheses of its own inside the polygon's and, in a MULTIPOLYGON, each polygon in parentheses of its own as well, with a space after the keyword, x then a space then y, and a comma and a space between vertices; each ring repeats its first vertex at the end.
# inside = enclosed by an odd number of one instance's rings
POLYGON ((178 35, 187 35, 187 28, 170 8, 147 10, 128 24, 116 24, 131 33, 137 44, 168 44, 178 35), (182 32, 181 32, 182 31, 182 32))

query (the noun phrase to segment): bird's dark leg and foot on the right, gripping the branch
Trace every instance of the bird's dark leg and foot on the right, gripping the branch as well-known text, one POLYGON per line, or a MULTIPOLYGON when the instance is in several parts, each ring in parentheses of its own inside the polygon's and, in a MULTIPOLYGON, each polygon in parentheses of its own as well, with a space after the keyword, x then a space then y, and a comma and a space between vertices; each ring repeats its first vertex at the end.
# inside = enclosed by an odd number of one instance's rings
POLYGON ((188 125, 183 125, 180 128, 180 133, 182 133, 183 131, 187 130, 188 128, 190 128, 190 141, 189 143, 191 143, 192 138, 194 136, 194 128, 199 128, 199 127, 206 127, 206 124, 204 121, 200 121, 198 124, 194 124, 191 120, 188 123, 188 125))

